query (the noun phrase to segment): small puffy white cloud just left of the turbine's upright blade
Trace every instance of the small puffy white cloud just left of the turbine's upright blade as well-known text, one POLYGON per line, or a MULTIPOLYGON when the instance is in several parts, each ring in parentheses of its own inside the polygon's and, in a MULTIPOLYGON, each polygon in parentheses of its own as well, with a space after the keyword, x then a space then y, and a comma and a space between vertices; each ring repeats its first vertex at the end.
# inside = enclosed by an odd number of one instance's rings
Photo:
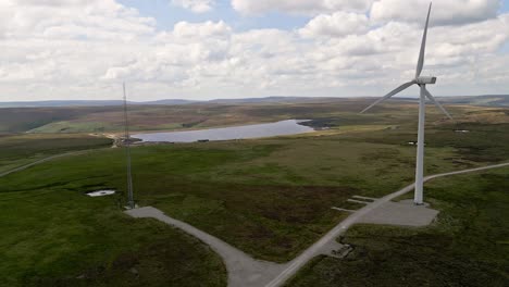
POLYGON ((364 14, 335 12, 332 15, 319 15, 300 29, 305 37, 342 37, 362 34, 369 30, 369 20, 364 14))

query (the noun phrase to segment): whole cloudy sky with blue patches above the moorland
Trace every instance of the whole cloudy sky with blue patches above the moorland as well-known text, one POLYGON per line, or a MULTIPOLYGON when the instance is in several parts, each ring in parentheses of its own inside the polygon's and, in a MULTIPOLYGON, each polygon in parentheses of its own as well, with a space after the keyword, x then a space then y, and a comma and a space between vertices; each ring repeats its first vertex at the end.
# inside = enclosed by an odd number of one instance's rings
MULTIPOLYGON (((429 3, 0 0, 0 101, 383 96, 429 3)), ((509 0, 435 0, 430 25, 434 95, 509 93, 509 0)))

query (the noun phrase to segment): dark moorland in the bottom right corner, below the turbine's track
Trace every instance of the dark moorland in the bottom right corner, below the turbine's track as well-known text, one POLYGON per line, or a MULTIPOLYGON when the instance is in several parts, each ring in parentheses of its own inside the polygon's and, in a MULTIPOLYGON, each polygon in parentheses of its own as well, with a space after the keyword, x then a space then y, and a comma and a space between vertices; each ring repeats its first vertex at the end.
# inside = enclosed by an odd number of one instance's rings
POLYGON ((287 286, 507 286, 509 169, 426 185, 440 211, 424 228, 357 225, 344 260, 320 257, 287 286))

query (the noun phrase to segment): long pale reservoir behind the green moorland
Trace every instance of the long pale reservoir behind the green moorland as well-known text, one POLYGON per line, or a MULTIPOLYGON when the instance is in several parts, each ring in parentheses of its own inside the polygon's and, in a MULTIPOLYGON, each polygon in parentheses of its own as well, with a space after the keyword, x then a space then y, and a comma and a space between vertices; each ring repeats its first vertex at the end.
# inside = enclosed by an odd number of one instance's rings
POLYGON ((287 120, 270 124, 232 126, 201 130, 170 132, 133 135, 142 142, 195 142, 208 140, 233 140, 288 136, 314 132, 313 128, 300 125, 305 120, 287 120))

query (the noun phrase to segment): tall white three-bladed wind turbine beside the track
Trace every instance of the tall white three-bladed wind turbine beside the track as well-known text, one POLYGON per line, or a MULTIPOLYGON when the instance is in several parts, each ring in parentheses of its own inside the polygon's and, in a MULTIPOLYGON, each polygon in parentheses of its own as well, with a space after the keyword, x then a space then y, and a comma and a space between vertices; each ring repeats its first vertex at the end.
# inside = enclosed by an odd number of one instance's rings
POLYGON ((430 24, 430 14, 431 14, 432 3, 430 3, 430 10, 427 11, 426 25, 424 27, 424 34, 422 36, 421 51, 419 53, 419 61, 415 72, 415 78, 405 83, 395 90, 387 93, 385 97, 378 99, 370 107, 365 108, 361 113, 367 112, 376 104, 390 99, 393 96, 406 90, 410 86, 418 85, 421 89, 420 100, 419 100, 419 133, 418 133, 418 152, 417 152, 417 166, 415 166, 415 195, 414 203, 418 205, 423 204, 423 172, 424 172, 424 123, 426 114, 426 98, 430 101, 434 102, 436 107, 447 115, 450 120, 452 116, 442 107, 439 102, 427 91, 426 85, 434 85, 436 83, 436 77, 424 77, 421 76, 422 68, 424 66, 424 54, 426 49, 426 38, 427 38, 427 26, 430 24))

